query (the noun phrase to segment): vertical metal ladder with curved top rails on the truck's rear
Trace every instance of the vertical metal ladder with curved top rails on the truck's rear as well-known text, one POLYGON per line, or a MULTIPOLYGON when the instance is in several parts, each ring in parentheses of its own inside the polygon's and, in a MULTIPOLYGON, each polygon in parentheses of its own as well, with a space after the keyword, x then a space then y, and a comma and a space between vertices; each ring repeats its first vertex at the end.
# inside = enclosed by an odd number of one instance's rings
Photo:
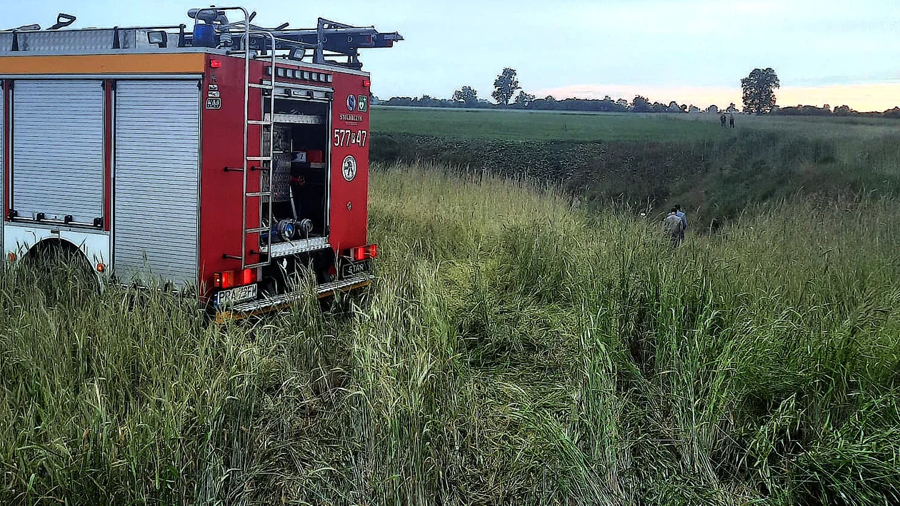
MULTIPOLYGON (((250 30, 250 20, 251 16, 247 12, 247 9, 244 7, 211 7, 211 10, 217 11, 240 11, 244 14, 244 22, 243 26, 243 50, 230 50, 229 55, 236 55, 242 53, 244 56, 244 150, 243 150, 243 162, 241 164, 240 169, 230 169, 230 170, 238 170, 241 173, 242 179, 242 187, 243 191, 241 193, 241 234, 240 234, 240 255, 229 255, 224 254, 225 258, 230 258, 233 260, 240 260, 240 268, 241 269, 255 269, 257 267, 265 267, 271 263, 271 257, 266 257, 265 262, 249 262, 247 258, 247 237, 252 236, 254 234, 264 234, 265 233, 265 245, 266 252, 272 249, 272 196, 273 196, 273 141, 275 140, 275 127, 273 123, 273 119, 275 117, 275 81, 278 75, 277 70, 275 69, 275 35, 273 35, 270 31, 258 31, 258 30, 250 30), (272 51, 271 51, 271 75, 269 79, 269 84, 256 84, 250 82, 250 61, 255 58, 251 58, 251 37, 253 36, 265 36, 269 38, 272 42, 272 51), (259 120, 250 120, 250 89, 257 88, 263 90, 263 93, 266 91, 269 92, 269 120, 266 120, 266 112, 263 111, 262 118, 259 120), (259 156, 249 156, 249 148, 250 148, 250 138, 249 138, 249 128, 251 125, 258 125, 262 129, 266 129, 268 127, 268 150, 267 153, 260 153, 259 156), (251 167, 249 165, 250 162, 257 162, 258 166, 251 167), (268 166, 266 166, 268 164, 268 166), (260 178, 260 189, 259 191, 247 191, 247 187, 249 186, 249 177, 250 173, 266 173, 268 178, 268 187, 264 191, 263 180, 260 178), (262 203, 264 200, 268 199, 268 212, 266 213, 266 219, 263 219, 263 209, 262 203), (247 209, 248 209, 248 201, 249 200, 257 200, 257 209, 259 209, 259 223, 254 224, 255 226, 250 226, 247 228, 247 209)), ((233 24, 233 23, 232 23, 233 24)), ((226 169, 229 170, 229 169, 226 169)), ((261 241, 257 240, 257 248, 260 250, 263 249, 263 244, 261 241)), ((262 252, 257 250, 251 250, 250 254, 260 254, 262 252)))

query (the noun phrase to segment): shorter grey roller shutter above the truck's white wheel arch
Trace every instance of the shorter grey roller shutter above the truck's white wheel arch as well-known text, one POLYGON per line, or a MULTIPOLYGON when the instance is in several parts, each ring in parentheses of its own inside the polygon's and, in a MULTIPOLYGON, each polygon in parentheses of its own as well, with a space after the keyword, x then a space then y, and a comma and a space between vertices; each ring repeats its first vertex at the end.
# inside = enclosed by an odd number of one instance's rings
POLYGON ((20 217, 103 216, 101 81, 18 80, 13 89, 13 209, 20 217))

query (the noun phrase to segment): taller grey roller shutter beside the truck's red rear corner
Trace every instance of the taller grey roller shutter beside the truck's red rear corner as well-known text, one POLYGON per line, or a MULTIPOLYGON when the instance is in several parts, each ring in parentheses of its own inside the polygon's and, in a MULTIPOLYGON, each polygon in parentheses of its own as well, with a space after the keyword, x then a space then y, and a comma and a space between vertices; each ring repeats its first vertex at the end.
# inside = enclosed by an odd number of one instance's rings
POLYGON ((121 280, 197 280, 200 90, 196 81, 119 81, 113 269, 121 280))

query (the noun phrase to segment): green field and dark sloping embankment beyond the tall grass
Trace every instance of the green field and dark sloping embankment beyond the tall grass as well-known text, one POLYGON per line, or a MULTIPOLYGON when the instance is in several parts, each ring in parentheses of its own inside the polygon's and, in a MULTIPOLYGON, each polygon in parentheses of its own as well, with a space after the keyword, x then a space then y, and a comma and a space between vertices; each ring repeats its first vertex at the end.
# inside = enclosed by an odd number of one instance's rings
POLYGON ((720 224, 795 194, 900 194, 900 122, 738 115, 375 108, 377 160, 422 159, 553 182, 602 209, 686 205, 720 224))

